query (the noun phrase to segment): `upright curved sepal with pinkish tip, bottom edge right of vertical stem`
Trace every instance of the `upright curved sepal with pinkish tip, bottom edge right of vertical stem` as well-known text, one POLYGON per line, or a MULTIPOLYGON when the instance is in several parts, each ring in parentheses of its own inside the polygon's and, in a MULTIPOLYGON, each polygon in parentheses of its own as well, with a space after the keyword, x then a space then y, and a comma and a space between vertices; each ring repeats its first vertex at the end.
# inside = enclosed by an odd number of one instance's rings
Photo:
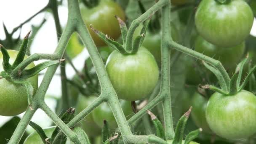
POLYGON ((187 124, 187 120, 189 118, 191 110, 192 110, 192 107, 190 107, 189 110, 184 115, 182 115, 181 118, 179 119, 177 126, 175 128, 175 136, 172 144, 181 144, 183 134, 184 134, 184 129, 187 124))

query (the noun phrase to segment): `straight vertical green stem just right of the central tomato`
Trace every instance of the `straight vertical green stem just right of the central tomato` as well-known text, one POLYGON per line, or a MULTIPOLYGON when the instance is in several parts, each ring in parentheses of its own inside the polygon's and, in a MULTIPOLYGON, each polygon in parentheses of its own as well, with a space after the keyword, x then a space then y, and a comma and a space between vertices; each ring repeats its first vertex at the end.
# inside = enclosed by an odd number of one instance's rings
POLYGON ((170 91, 170 60, 171 50, 168 48, 169 40, 171 38, 171 24, 170 24, 170 11, 171 2, 168 0, 168 5, 162 8, 162 40, 161 40, 161 56, 162 56, 162 75, 161 75, 161 89, 160 95, 163 99, 163 113, 164 113, 164 126, 165 138, 173 139, 175 133, 173 128, 173 116, 171 111, 171 91, 170 91))

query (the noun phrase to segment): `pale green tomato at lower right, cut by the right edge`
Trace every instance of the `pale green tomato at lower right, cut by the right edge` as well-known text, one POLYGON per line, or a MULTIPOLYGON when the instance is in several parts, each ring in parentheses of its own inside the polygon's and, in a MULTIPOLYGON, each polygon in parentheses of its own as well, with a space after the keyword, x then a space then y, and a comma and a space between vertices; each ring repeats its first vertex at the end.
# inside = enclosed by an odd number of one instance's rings
POLYGON ((256 96, 242 90, 232 96, 213 93, 206 107, 211 130, 225 139, 245 139, 256 132, 256 96))

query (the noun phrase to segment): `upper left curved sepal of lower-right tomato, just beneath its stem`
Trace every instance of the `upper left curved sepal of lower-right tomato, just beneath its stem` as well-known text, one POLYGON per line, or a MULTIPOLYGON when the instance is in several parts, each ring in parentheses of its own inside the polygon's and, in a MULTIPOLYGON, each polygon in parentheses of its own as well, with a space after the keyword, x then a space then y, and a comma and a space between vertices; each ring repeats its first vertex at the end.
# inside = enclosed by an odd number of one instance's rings
POLYGON ((221 75, 221 72, 219 72, 218 69, 210 66, 209 64, 207 64, 206 62, 203 61, 203 65, 209 69, 211 72, 213 72, 213 74, 217 77, 218 81, 219 81, 219 84, 221 86, 221 88, 224 90, 224 91, 227 91, 227 85, 225 83, 225 80, 224 80, 224 77, 221 75))

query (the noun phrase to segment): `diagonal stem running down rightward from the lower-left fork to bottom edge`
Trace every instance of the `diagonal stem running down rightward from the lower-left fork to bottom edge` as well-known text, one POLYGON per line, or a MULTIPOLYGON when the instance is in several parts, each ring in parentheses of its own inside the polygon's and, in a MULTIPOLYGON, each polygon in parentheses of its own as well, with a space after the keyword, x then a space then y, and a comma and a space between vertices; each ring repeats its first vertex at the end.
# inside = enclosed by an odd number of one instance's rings
POLYGON ((77 135, 44 102, 40 103, 39 107, 53 120, 53 123, 55 123, 71 141, 75 144, 81 144, 77 135))

